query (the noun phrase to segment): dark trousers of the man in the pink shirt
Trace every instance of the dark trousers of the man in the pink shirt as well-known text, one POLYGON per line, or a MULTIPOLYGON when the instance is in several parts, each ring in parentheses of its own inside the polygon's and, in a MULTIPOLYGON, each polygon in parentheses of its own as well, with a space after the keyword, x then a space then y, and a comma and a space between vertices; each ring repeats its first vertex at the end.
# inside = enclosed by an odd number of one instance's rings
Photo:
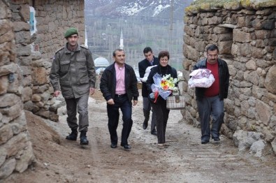
POLYGON ((115 96, 113 99, 114 105, 107 105, 108 108, 108 130, 110 133, 110 140, 112 144, 117 144, 117 126, 119 123, 119 108, 122 111, 123 119, 123 129, 122 129, 122 145, 127 145, 127 139, 129 138, 129 133, 131 132, 132 127, 132 103, 129 101, 127 95, 124 96, 115 96))

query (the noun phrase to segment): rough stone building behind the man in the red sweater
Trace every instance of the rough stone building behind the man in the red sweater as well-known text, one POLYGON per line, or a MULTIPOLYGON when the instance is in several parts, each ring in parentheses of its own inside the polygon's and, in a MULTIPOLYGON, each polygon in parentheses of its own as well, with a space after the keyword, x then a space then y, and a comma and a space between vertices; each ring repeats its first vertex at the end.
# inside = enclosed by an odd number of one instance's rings
MULTIPOLYGON (((276 1, 198 3, 184 17, 184 121, 199 126, 189 73, 210 44, 219 47, 231 74, 222 133, 239 149, 276 152, 276 1), (272 145, 272 146, 271 146, 272 145)), ((198 137, 200 138, 200 137, 198 137)))

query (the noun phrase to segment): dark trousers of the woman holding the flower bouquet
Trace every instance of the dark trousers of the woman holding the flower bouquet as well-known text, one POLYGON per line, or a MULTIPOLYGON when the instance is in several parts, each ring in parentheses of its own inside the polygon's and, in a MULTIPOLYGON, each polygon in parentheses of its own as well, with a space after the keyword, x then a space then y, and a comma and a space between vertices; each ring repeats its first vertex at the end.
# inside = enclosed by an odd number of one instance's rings
POLYGON ((152 109, 157 119, 157 140, 159 144, 166 142, 165 133, 170 110, 166 108, 166 101, 159 100, 158 103, 152 103, 152 109))

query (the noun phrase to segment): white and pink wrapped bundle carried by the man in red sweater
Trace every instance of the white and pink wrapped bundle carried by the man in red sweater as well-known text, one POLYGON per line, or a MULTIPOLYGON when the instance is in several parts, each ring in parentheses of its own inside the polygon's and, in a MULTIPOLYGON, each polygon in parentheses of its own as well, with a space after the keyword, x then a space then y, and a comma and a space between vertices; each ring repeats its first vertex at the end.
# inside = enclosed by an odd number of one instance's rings
POLYGON ((189 88, 203 87, 208 88, 215 82, 214 75, 208 68, 198 68, 189 74, 191 78, 188 81, 189 88))

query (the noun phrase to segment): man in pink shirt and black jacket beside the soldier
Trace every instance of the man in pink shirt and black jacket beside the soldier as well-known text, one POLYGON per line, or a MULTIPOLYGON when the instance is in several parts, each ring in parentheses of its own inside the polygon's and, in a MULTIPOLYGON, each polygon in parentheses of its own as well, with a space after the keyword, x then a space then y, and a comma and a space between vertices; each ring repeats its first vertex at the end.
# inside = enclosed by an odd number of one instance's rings
POLYGON ((119 123, 119 108, 123 115, 123 129, 121 146, 125 150, 130 150, 131 146, 127 139, 131 132, 133 121, 132 103, 136 105, 138 102, 137 78, 131 66, 125 64, 126 55, 124 50, 117 49, 113 52, 115 62, 108 66, 101 75, 100 89, 103 97, 107 101, 108 110, 108 130, 110 133, 111 148, 117 147, 117 126, 119 123))

